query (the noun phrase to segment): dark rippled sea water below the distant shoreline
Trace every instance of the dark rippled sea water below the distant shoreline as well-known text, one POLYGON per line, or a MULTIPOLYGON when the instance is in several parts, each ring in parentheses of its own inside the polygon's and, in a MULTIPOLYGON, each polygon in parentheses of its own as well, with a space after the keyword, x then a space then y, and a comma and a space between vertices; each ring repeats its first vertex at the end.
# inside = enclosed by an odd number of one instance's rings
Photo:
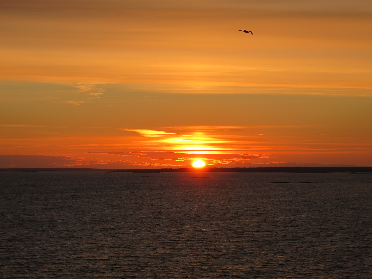
POLYGON ((1 278, 372 278, 372 174, 0 179, 1 278))

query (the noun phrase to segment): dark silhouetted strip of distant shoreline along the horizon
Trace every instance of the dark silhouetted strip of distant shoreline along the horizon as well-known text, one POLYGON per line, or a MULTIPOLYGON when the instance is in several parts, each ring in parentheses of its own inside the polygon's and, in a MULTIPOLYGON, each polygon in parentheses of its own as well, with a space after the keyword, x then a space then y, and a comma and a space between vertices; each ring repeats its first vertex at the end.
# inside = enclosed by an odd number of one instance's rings
POLYGON ((100 172, 241 172, 241 173, 372 173, 372 167, 204 167, 188 168, 161 168, 161 169, 89 169, 89 168, 9 168, 0 171, 15 172, 44 172, 44 171, 100 171, 100 172))

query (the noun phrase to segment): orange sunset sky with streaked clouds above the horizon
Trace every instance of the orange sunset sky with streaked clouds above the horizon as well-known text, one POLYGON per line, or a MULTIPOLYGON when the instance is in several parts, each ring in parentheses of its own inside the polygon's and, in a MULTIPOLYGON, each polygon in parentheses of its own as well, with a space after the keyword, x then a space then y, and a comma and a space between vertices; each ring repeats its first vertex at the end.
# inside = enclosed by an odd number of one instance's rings
POLYGON ((0 168, 372 166, 370 0, 1 0, 0 30, 0 168))

